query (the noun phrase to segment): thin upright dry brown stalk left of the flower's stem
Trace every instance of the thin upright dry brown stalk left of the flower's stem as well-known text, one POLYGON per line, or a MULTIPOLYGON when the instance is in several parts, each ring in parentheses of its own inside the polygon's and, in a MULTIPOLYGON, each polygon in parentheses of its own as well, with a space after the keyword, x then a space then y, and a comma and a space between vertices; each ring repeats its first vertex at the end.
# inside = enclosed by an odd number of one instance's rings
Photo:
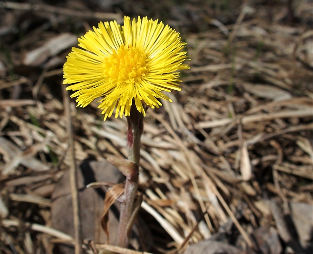
POLYGON ((71 110, 70 110, 70 97, 67 95, 65 86, 62 85, 63 101, 65 115, 67 118, 67 135, 68 135, 68 152, 70 159, 70 184, 72 194, 72 206, 73 206, 73 217, 74 217, 74 232, 75 232, 75 254, 82 253, 82 236, 81 236, 81 223, 79 213, 79 201, 77 192, 77 179, 76 179, 76 164, 74 155, 74 137, 73 137, 73 126, 71 121, 71 110))

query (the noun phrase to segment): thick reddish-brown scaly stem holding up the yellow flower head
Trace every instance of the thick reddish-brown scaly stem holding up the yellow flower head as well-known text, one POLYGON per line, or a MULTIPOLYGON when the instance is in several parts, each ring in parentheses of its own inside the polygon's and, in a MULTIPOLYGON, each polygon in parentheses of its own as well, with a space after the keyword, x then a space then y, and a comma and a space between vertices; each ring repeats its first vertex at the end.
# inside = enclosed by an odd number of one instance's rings
POLYGON ((140 159, 140 138, 143 131, 143 115, 135 105, 131 106, 130 116, 127 117, 127 149, 128 160, 136 166, 131 168, 130 174, 126 177, 124 199, 121 204, 120 224, 117 235, 117 245, 128 247, 129 237, 135 216, 133 212, 137 197, 139 182, 139 159, 140 159))

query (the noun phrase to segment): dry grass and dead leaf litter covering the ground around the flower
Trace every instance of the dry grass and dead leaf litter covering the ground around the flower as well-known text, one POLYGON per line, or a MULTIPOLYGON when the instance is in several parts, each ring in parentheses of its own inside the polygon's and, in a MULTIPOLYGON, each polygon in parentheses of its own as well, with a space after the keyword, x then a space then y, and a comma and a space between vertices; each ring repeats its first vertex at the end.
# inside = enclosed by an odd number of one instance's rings
POLYGON ((88 161, 106 184, 79 184, 85 253, 311 253, 312 24, 310 0, 0 2, 0 252, 74 253, 66 179, 88 161), (123 15, 163 20, 191 59, 182 91, 144 119, 129 249, 100 222, 123 179, 106 159, 127 157, 126 119, 62 89, 77 38, 123 15))

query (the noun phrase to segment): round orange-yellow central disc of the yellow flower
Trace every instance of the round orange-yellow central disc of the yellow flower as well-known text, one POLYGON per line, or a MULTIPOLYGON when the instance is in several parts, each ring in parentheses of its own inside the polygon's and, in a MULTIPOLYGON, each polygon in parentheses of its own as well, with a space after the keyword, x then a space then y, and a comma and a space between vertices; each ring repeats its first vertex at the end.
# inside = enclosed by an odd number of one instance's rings
POLYGON ((121 45, 102 63, 103 75, 110 82, 134 84, 141 81, 149 70, 149 58, 143 49, 121 45))

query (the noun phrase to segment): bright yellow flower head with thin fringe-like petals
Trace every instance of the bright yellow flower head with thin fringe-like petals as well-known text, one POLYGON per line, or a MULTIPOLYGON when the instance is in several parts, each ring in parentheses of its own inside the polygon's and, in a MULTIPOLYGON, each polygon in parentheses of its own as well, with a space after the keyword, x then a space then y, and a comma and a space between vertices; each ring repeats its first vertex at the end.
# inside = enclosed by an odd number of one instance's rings
POLYGON ((76 91, 77 106, 100 98, 105 120, 115 108, 115 117, 129 116, 133 101, 143 115, 143 103, 158 108, 159 98, 171 101, 162 91, 181 90, 178 70, 189 69, 180 34, 147 17, 125 16, 124 26, 100 22, 78 42, 81 49, 73 47, 64 64, 63 84, 72 84, 67 90, 76 91))

